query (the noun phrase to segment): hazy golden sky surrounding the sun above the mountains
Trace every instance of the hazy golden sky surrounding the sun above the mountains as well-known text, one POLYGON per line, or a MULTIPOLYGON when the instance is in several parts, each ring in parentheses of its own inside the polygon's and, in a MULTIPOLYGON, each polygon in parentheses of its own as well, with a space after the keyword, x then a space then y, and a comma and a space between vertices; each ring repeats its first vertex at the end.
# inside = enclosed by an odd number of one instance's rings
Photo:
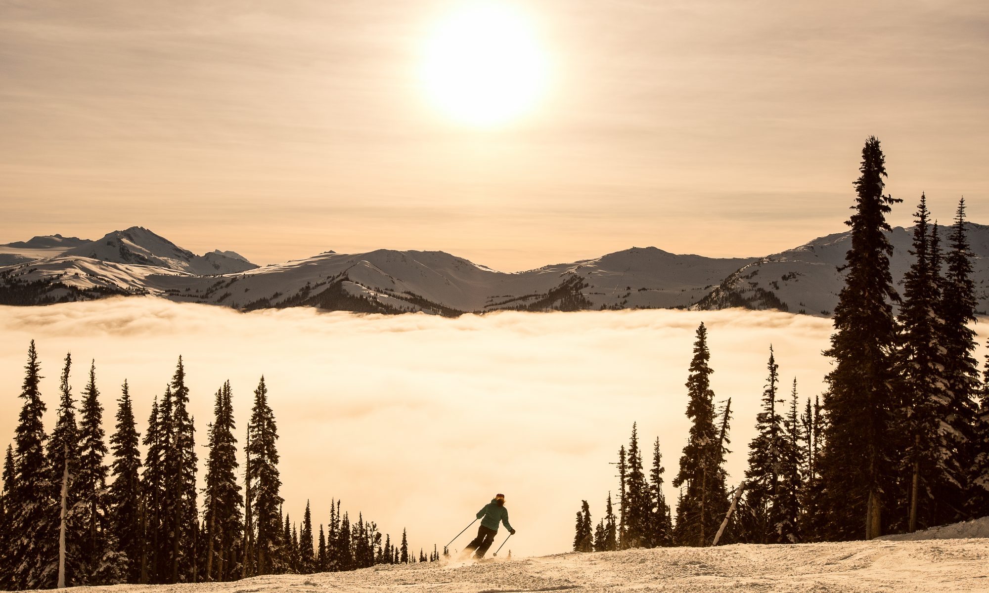
POLYGON ((894 223, 921 191, 989 220, 985 2, 493 0, 544 92, 484 128, 420 76, 473 4, 0 0, 0 242, 142 225, 262 264, 388 247, 504 271, 764 255, 844 228, 869 134, 894 223))

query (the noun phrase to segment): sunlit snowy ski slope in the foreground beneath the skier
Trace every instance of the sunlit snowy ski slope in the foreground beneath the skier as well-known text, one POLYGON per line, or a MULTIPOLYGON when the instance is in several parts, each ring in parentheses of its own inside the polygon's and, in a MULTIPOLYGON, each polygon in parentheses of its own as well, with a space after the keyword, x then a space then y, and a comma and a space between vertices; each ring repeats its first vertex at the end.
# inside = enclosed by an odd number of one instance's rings
POLYGON ((989 540, 735 545, 425 562, 230 583, 88 587, 107 593, 989 591, 989 540))

